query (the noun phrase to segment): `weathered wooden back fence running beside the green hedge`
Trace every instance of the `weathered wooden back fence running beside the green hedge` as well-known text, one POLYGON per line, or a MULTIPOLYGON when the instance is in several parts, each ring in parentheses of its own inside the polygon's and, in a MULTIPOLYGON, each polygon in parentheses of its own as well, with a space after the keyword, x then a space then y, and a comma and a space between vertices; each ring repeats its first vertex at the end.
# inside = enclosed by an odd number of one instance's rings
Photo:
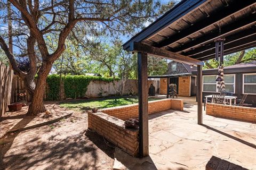
MULTIPOLYGON (((121 86, 121 81, 116 81, 115 86, 119 87, 121 86)), ((150 84, 153 83, 153 85, 156 87, 159 86, 157 84, 157 81, 155 80, 148 80, 148 87, 150 84)), ((46 87, 47 89, 47 87, 46 87)), ((127 80, 125 87, 124 87, 124 94, 138 94, 138 80, 129 79, 127 80)), ((44 99, 46 100, 46 95, 44 95, 44 99)), ((105 81, 98 81, 93 80, 89 83, 87 86, 87 91, 84 95, 86 98, 97 98, 97 97, 106 97, 106 96, 114 96, 117 95, 117 92, 114 88, 114 85, 112 82, 105 82, 105 81)), ((13 83, 12 83, 12 103, 15 103, 19 101, 20 99, 31 101, 31 97, 29 96, 28 92, 26 91, 25 85, 23 81, 17 76, 14 75, 13 83), (26 97, 20 97, 17 94, 26 93, 26 97)))

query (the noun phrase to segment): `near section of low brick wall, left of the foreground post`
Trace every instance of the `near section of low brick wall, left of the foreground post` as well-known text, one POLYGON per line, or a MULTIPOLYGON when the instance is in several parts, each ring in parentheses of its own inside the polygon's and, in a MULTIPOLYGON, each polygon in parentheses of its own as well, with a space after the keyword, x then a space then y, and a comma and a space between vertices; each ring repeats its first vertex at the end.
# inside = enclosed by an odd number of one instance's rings
POLYGON ((98 132, 129 154, 133 156, 138 154, 139 131, 125 129, 124 121, 102 112, 88 112, 88 128, 98 132))

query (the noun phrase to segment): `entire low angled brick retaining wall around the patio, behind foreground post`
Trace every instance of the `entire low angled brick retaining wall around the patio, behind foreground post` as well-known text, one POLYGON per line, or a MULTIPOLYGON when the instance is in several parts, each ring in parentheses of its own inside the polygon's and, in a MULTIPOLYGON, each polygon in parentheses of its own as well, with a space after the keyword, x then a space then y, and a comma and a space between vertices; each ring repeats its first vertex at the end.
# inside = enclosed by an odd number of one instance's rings
MULTIPOLYGON (((162 99, 148 102, 148 114, 179 109, 183 111, 183 100, 162 99)), ((138 117, 138 104, 102 109, 98 113, 88 112, 88 128, 98 132, 103 137, 124 149, 129 154, 138 154, 139 131, 126 129, 124 121, 138 117)))

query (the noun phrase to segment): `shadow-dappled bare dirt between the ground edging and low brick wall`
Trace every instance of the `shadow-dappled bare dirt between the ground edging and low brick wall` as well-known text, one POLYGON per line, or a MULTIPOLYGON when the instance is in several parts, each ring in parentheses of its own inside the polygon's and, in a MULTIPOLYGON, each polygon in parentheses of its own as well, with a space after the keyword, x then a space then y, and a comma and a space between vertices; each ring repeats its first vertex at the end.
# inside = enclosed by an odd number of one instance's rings
POLYGON ((31 130, 11 133, 0 142, 0 169, 112 169, 113 145, 87 130, 87 113, 31 130))

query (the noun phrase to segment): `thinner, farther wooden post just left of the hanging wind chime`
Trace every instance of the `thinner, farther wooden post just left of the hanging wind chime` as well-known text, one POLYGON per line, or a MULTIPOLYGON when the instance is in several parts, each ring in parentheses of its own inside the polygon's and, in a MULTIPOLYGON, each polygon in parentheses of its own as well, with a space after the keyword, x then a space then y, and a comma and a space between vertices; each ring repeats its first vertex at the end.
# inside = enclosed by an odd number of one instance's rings
POLYGON ((197 65, 197 124, 203 124, 202 65, 197 65))

